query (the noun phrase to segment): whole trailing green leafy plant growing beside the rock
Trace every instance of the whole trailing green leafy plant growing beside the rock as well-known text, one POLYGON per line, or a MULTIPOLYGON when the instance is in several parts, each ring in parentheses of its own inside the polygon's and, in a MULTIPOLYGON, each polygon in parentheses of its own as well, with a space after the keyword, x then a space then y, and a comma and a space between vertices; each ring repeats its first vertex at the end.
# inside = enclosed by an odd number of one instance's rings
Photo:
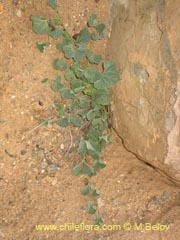
MULTIPOLYGON (((53 38, 57 50, 64 58, 55 58, 52 67, 59 72, 52 80, 45 78, 42 82, 50 82, 53 91, 58 92, 66 104, 55 103, 58 114, 57 124, 62 127, 76 127, 84 129, 79 141, 77 152, 80 161, 73 168, 76 176, 86 175, 88 179, 106 167, 102 160, 102 150, 109 143, 110 135, 107 134, 108 112, 110 105, 109 88, 113 87, 120 79, 116 65, 113 61, 102 63, 102 71, 97 65, 101 64, 102 56, 95 55, 88 48, 93 40, 104 38, 105 25, 98 23, 96 14, 92 14, 76 39, 67 32, 58 12, 55 0, 48 0, 48 5, 55 9, 56 18, 44 19, 42 16, 31 16, 32 30, 38 34, 47 34, 53 38), (63 72, 64 71, 64 72, 63 72), (63 72, 63 73, 62 73, 63 72)), ((36 44, 40 52, 44 52, 49 43, 36 44)), ((44 121, 44 124, 48 122, 44 121)), ((87 212, 97 213, 97 197, 99 191, 88 180, 81 193, 90 196, 87 212)), ((95 223, 103 222, 97 215, 95 223)))

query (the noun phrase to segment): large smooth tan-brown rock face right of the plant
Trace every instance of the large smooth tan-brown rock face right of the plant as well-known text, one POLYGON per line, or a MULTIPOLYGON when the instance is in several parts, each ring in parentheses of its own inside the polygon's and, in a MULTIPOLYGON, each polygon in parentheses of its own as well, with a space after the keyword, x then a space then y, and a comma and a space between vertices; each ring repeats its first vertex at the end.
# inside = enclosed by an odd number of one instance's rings
POLYGON ((180 1, 114 0, 111 16, 114 127, 127 149, 180 181, 180 1))

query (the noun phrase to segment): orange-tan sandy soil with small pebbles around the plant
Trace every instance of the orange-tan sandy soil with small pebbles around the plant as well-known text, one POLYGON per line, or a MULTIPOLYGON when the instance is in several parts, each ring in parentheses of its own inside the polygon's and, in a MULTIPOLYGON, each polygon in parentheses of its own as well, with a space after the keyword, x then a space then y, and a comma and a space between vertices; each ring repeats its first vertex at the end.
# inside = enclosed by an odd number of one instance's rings
MULTIPOLYGON (((107 0, 61 0, 60 9, 72 34, 92 13, 109 24, 107 0)), ((57 95, 41 81, 53 76, 57 52, 53 42, 43 54, 36 49, 36 41, 47 37, 32 32, 29 17, 52 14, 46 1, 0 1, 0 239, 179 239, 180 190, 127 152, 115 134, 104 151, 107 167, 93 181, 101 192, 104 224, 121 229, 36 229, 39 224, 93 223, 84 208, 87 198, 80 194, 84 178, 72 174, 76 159, 63 158, 67 130, 53 121, 47 127, 38 121, 54 117, 57 95)), ((104 56, 107 36, 94 47, 104 56)))

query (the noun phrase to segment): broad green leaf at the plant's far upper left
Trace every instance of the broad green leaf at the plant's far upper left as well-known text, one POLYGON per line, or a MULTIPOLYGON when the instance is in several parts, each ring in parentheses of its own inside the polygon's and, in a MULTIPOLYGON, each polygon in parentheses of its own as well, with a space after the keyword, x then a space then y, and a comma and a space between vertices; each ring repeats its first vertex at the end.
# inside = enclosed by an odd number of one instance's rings
POLYGON ((49 24, 46 19, 41 16, 31 16, 32 29, 35 33, 38 34, 47 34, 49 33, 49 24))

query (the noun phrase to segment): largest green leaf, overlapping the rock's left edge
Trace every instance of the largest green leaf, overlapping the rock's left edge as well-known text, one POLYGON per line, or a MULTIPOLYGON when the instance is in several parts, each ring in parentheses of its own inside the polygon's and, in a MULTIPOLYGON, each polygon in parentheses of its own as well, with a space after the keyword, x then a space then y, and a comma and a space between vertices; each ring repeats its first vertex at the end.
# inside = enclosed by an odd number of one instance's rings
POLYGON ((120 76, 115 63, 112 61, 106 61, 104 62, 104 72, 101 74, 101 78, 94 83, 94 87, 97 89, 111 88, 119 79, 120 76))

